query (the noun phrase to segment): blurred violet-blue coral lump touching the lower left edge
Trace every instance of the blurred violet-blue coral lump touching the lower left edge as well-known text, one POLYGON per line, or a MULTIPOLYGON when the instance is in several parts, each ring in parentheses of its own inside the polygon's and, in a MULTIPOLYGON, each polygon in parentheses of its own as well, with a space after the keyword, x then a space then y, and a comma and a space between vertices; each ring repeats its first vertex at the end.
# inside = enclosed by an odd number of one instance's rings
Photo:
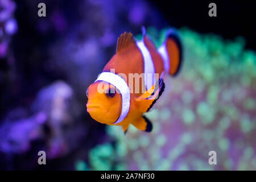
MULTIPOLYGON (((11 115, 24 112, 16 109, 11 115)), ((47 116, 43 112, 32 115, 29 118, 13 120, 10 117, 0 126, 0 151, 6 154, 16 154, 28 151, 31 148, 31 140, 43 137, 42 125, 47 116)))

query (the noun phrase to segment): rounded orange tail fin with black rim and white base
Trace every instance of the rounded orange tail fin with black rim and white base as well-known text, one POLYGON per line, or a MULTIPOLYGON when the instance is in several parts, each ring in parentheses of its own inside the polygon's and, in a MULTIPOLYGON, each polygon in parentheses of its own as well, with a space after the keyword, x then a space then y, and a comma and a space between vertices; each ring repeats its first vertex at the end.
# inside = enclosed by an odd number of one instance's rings
POLYGON ((176 76, 181 67, 182 47, 180 37, 175 29, 167 30, 166 40, 158 48, 158 52, 164 61, 165 71, 171 76, 176 76))

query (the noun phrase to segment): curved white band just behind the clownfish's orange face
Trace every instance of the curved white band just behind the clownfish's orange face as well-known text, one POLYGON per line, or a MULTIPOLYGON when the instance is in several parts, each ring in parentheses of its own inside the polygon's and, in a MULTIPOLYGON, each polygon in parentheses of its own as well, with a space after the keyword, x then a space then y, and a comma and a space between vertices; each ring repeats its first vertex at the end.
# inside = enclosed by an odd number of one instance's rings
POLYGON ((109 82, 110 84, 114 85, 115 88, 117 88, 121 93, 122 113, 114 124, 117 124, 123 121, 123 119, 125 119, 126 115, 129 113, 129 109, 130 109, 130 89, 126 84, 126 81, 123 80, 122 77, 115 75, 114 73, 111 73, 111 72, 102 72, 98 76, 96 81, 98 80, 109 82))

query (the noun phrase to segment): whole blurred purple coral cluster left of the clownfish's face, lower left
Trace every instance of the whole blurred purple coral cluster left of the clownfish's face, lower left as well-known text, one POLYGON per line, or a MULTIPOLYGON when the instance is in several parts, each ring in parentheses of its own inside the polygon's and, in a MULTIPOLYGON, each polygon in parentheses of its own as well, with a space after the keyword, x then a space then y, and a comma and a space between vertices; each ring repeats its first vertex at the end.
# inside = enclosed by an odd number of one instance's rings
POLYGON ((73 89, 63 81, 39 90, 30 110, 18 108, 7 114, 0 125, 0 152, 23 154, 31 150, 31 142, 40 139, 47 143, 41 150, 52 159, 77 148, 77 139, 86 134, 77 119, 73 89))

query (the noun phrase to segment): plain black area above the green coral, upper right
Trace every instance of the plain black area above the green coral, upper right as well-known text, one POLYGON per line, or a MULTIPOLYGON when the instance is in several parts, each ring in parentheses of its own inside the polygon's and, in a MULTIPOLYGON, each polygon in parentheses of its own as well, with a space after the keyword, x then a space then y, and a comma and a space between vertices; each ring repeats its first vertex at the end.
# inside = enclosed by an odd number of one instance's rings
POLYGON ((154 1, 151 3, 174 27, 189 27, 201 33, 213 32, 225 39, 243 36, 246 48, 256 49, 256 1, 154 1), (217 17, 208 16, 209 3, 216 3, 217 17))

